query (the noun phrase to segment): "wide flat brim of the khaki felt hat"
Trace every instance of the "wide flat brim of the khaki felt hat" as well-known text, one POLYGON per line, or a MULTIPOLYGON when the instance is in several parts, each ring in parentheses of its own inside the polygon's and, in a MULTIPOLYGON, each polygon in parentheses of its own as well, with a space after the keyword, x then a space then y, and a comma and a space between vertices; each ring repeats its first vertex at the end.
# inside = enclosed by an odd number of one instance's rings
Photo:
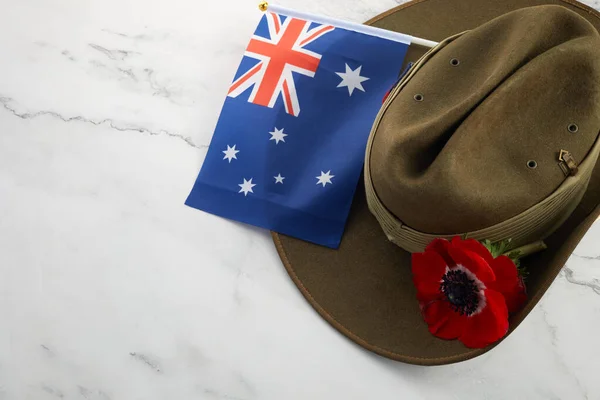
MULTIPOLYGON (((440 41, 504 13, 558 4, 578 12, 600 30, 600 14, 568 0, 416 0, 367 22, 385 29, 440 41)), ((411 46, 407 59, 426 49, 411 46)), ((600 215, 600 163, 571 217, 545 241, 548 249, 522 260, 528 302, 510 318, 510 334, 529 314, 600 215)), ((304 297, 333 327, 381 356, 420 365, 440 365, 481 355, 457 340, 431 335, 412 283, 411 255, 387 240, 370 213, 361 179, 340 247, 332 250, 273 232, 283 264, 304 297)), ((504 337, 506 338, 508 334, 504 337)))

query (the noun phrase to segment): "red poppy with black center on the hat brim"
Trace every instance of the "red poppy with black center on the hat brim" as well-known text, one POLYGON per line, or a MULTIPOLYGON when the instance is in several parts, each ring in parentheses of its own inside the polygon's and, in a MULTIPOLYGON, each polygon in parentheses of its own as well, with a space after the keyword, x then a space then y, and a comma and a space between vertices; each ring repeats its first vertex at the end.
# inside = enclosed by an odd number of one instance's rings
POLYGON ((526 299, 512 260, 474 239, 435 239, 412 256, 413 282, 429 331, 481 348, 508 331, 508 312, 526 299))

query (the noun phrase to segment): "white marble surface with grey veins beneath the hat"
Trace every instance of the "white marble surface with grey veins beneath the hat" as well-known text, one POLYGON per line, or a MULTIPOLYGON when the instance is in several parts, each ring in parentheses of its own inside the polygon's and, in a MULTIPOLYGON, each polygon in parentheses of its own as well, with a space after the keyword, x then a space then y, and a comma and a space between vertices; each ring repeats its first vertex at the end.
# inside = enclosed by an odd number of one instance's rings
POLYGON ((499 349, 422 368, 330 328, 267 232, 183 205, 259 17, 206 4, 2 2, 0 399, 599 399, 600 223, 499 349))

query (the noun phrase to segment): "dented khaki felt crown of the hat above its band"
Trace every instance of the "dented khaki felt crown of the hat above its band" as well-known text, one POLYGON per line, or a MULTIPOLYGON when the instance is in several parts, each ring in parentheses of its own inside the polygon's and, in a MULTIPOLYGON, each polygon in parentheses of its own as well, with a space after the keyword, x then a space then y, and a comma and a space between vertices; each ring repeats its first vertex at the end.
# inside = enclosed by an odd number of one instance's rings
MULTIPOLYGON (((587 184, 589 174, 566 174, 558 157, 596 162, 600 36, 561 6, 513 11, 440 48, 382 112, 370 178, 403 226, 452 235, 501 224, 567 179, 587 184)), ((580 198, 546 214, 564 220, 580 198)))

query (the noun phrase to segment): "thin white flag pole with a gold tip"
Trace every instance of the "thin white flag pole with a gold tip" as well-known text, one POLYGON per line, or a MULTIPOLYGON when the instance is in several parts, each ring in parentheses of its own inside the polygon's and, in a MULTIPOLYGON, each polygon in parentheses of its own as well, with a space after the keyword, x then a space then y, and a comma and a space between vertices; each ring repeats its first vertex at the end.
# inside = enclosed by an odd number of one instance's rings
POLYGON ((261 1, 258 4, 258 9, 262 12, 271 11, 277 14, 283 14, 290 17, 296 17, 301 19, 306 19, 309 21, 317 22, 320 24, 334 25, 339 26, 340 28, 369 34, 372 36, 381 37, 383 39, 394 40, 396 42, 402 42, 406 44, 416 44, 424 47, 435 47, 437 42, 422 39, 410 35, 406 35, 404 33, 393 32, 387 29, 376 28, 374 26, 368 26, 364 24, 357 24, 354 22, 342 21, 335 18, 325 17, 325 16, 317 16, 308 13, 303 13, 296 10, 291 10, 289 8, 281 7, 275 4, 269 4, 267 1, 261 1))

